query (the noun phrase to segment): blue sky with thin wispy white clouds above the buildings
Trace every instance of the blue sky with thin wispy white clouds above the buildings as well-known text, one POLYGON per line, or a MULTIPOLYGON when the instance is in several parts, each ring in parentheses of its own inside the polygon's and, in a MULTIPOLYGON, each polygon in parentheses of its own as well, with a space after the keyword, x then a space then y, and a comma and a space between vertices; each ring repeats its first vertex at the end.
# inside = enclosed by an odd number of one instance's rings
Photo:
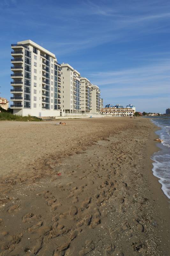
POLYGON ((170 1, 0 1, 0 92, 11 44, 31 39, 100 86, 104 104, 170 108, 170 1))

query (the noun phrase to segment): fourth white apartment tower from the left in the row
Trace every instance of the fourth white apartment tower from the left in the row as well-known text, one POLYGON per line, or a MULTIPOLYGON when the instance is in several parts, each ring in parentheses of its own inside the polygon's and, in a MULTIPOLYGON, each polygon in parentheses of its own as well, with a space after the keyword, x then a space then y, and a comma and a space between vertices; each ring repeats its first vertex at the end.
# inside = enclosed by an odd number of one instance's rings
POLYGON ((92 89, 92 109, 90 113, 100 112, 100 90, 97 85, 91 85, 92 89))

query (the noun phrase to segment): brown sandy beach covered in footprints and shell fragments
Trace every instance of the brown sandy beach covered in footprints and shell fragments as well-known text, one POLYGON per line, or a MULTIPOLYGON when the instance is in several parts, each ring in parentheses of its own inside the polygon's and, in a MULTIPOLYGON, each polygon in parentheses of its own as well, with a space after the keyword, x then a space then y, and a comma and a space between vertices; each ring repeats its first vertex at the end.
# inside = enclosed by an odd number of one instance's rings
POLYGON ((144 118, 0 122, 0 256, 169 256, 144 118))

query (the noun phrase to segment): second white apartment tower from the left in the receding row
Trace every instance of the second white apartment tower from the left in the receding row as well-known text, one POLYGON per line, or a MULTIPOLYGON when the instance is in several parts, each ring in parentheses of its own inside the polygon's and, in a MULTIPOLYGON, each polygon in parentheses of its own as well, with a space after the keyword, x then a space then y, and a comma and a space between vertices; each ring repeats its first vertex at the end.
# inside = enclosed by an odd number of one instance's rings
POLYGON ((61 109, 64 113, 81 113, 80 73, 69 64, 61 64, 61 109))

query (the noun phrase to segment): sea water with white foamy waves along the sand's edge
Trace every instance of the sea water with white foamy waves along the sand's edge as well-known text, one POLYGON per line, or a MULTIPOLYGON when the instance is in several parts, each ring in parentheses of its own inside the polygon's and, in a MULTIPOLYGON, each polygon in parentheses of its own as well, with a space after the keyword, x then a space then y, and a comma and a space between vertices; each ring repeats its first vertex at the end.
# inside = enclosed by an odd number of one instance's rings
POLYGON ((152 171, 159 178, 162 191, 170 199, 170 116, 155 116, 151 120, 161 128, 156 134, 163 140, 157 144, 160 150, 151 157, 154 161, 152 171))

